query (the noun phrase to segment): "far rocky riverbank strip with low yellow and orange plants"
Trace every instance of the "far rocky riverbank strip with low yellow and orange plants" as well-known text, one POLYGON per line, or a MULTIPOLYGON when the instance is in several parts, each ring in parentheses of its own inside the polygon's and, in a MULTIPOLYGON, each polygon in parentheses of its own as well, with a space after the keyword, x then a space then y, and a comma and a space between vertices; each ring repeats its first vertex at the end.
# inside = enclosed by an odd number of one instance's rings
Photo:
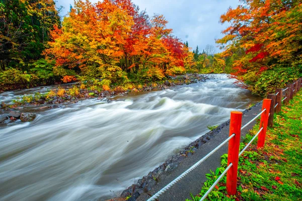
POLYGON ((90 83, 58 85, 45 93, 35 92, 34 94, 25 94, 17 99, 13 99, 11 103, 2 102, 0 104, 0 126, 12 124, 15 121, 17 123, 20 123, 20 121, 33 121, 36 117, 34 112, 37 110, 58 109, 63 105, 78 103, 90 98, 107 98, 107 102, 110 103, 131 92, 164 90, 171 86, 192 84, 200 81, 205 82, 209 77, 204 74, 186 74, 169 77, 164 83, 153 82, 137 86, 130 84, 127 88, 113 87, 113 89, 108 90, 103 90, 102 87, 90 83), (31 111, 30 108, 34 110, 31 111), (31 118, 20 118, 21 115, 30 116, 31 118))

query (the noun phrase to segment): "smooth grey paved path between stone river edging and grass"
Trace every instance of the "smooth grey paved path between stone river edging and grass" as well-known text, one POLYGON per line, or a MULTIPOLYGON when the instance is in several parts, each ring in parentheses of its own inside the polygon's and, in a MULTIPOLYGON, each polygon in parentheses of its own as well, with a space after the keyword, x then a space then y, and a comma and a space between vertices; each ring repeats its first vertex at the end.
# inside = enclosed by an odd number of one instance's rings
MULTIPOLYGON (((258 104, 252 108, 249 112, 245 113, 242 120, 242 125, 245 125, 247 122, 252 120, 256 115, 261 112, 262 104, 258 104)), ((250 129, 254 126, 256 122, 252 123, 248 127, 246 127, 241 136, 244 137, 250 129)), ((212 151, 215 147, 217 147, 221 142, 223 142, 226 138, 229 137, 229 129, 230 126, 225 126, 221 129, 218 134, 215 134, 215 137, 210 139, 207 143, 202 145, 192 156, 184 159, 180 165, 173 170, 169 175, 164 176, 161 180, 148 192, 150 194, 155 194, 192 165, 194 165, 197 161, 199 161, 202 157, 212 151)), ((210 156, 206 161, 204 161, 201 165, 199 165, 196 169, 182 178, 179 182, 177 182, 174 186, 172 186, 169 190, 167 190, 164 194, 159 197, 160 201, 185 201, 186 198, 190 198, 190 193, 196 195, 200 193, 201 187, 203 186, 203 182, 206 181, 205 174, 210 172, 211 170, 215 170, 220 167, 220 156, 228 153, 228 144, 225 144, 221 147, 217 152, 215 152, 212 156, 210 156)), ((142 193, 136 200, 142 201, 148 199, 150 196, 147 193, 142 193)))

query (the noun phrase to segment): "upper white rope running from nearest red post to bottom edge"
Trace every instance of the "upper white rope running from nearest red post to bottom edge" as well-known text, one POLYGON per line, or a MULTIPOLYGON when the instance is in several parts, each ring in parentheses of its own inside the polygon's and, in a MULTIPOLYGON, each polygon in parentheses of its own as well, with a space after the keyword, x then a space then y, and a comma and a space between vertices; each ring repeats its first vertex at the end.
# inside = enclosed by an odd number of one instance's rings
POLYGON ((181 175, 179 175, 176 179, 174 179, 173 181, 171 181, 168 185, 166 185, 165 187, 163 187, 155 195, 153 195, 152 197, 150 197, 149 199, 147 199, 147 201, 151 201, 151 200, 157 199, 159 196, 161 196, 161 194, 163 194, 164 192, 166 192, 166 190, 168 190, 170 187, 172 187, 180 179, 182 179, 183 177, 185 177, 188 173, 190 173, 193 169, 195 169, 198 165, 200 165, 203 161, 205 161, 208 157, 210 157, 213 153, 215 153, 218 149, 220 149, 225 143, 229 142, 234 136, 235 136, 235 134, 231 135, 228 139, 224 140, 220 145, 218 145, 215 149, 213 149, 213 151, 211 151, 210 153, 208 153, 200 161, 198 161, 197 163, 195 163, 192 167, 190 167, 189 169, 187 169, 184 173, 182 173, 181 175))

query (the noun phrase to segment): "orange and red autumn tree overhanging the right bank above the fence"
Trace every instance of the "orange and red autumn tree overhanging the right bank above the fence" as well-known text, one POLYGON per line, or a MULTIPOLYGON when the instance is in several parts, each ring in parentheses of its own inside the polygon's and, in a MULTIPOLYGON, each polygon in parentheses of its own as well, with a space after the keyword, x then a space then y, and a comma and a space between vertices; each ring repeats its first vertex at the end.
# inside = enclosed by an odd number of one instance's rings
POLYGON ((231 26, 217 43, 224 48, 225 57, 232 57, 238 50, 245 52, 234 57, 234 74, 255 93, 271 92, 300 76, 301 11, 300 1, 246 0, 221 16, 221 23, 231 26))

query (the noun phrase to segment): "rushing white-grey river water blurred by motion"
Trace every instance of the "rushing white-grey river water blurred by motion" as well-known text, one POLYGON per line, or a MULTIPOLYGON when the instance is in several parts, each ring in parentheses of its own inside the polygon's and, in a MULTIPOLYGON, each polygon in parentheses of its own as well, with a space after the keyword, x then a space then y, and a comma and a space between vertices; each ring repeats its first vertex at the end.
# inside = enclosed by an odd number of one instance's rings
MULTIPOLYGON (((207 82, 130 94, 110 104, 89 99, 40 112, 31 123, 0 128, 0 200, 118 196, 208 132, 207 125, 259 102, 233 82, 214 75, 207 82)), ((2 98, 16 95, 20 92, 6 92, 2 98)))

